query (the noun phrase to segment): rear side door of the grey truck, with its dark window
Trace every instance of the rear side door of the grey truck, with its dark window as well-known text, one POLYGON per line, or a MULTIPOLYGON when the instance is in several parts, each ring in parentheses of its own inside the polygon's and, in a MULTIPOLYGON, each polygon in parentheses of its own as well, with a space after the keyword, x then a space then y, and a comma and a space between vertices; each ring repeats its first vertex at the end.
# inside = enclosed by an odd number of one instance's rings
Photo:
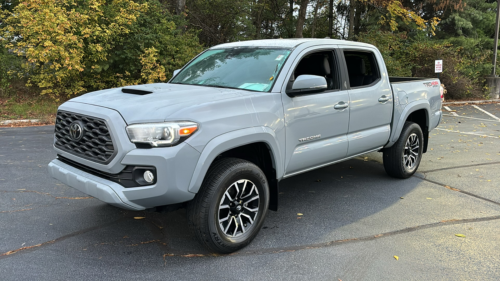
POLYGON ((387 143, 392 118, 392 93, 385 64, 376 49, 341 46, 348 73, 349 128, 347 157, 387 143))

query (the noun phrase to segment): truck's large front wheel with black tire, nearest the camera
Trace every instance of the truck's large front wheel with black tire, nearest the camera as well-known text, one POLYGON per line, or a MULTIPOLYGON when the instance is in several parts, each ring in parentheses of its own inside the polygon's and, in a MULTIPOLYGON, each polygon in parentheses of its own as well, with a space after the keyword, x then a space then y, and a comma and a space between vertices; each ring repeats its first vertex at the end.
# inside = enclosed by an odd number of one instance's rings
POLYGON ((269 187, 262 170, 246 160, 224 158, 208 169, 198 193, 187 205, 187 219, 194 236, 208 249, 230 253, 246 246, 257 235, 268 206, 269 187), (248 182, 253 183, 249 191, 242 186, 248 182), (240 190, 237 194, 241 198, 235 195, 236 190, 240 190), (245 204, 245 198, 249 200, 255 194, 257 198, 245 204), (249 211, 256 206, 256 211, 249 211), (253 217, 252 223, 247 216, 253 217), (220 222, 222 225, 219 224, 221 217, 226 219, 220 222))

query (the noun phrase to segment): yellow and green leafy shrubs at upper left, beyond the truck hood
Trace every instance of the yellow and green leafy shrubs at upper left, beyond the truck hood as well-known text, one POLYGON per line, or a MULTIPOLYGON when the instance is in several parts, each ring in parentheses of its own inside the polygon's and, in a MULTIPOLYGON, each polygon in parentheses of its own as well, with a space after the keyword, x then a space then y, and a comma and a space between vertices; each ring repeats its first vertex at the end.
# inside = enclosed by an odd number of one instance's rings
POLYGON ((26 85, 56 98, 165 81, 200 50, 157 1, 25 0, 4 22, 0 39, 23 58, 26 85))

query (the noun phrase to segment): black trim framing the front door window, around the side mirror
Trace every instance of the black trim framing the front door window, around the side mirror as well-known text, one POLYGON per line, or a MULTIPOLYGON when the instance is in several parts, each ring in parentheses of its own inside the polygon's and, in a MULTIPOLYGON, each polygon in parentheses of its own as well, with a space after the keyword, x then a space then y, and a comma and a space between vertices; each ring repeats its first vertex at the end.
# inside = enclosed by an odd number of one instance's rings
MULTIPOLYGON (((341 58, 338 56, 338 51, 337 50, 338 50, 338 48, 336 48, 336 47, 321 47, 321 48, 310 50, 310 51, 306 52, 304 55, 302 55, 300 57, 300 59, 298 59, 297 63, 295 65, 293 65, 293 70, 288 75, 288 78, 285 80, 286 81, 286 88, 285 88, 286 95, 288 95, 289 97, 297 97, 297 96, 303 96, 303 95, 329 93, 329 92, 335 92, 335 91, 344 90, 343 87, 342 87, 342 85, 341 85, 341 81, 343 79, 343 71, 340 70, 340 60, 341 60, 341 58), (331 70, 335 70, 335 72, 336 72, 336 85, 335 85, 336 88, 335 89, 331 89, 331 90, 317 91, 317 92, 304 92, 304 93, 296 93, 296 92, 294 92, 293 94, 290 94, 291 93, 290 92, 290 90, 291 90, 291 84, 292 84, 290 82, 295 81, 295 79, 292 79, 291 76, 293 75, 293 73, 295 73, 295 68, 297 67, 298 63, 300 63, 300 61, 302 60, 302 58, 304 58, 305 56, 307 56, 307 55, 309 55, 311 53, 325 51, 325 50, 331 51, 331 55, 332 55, 332 58, 333 58, 333 67, 330 66, 330 68, 331 68, 330 71, 331 70)), ((293 78, 295 78, 295 77, 293 77, 293 78)))

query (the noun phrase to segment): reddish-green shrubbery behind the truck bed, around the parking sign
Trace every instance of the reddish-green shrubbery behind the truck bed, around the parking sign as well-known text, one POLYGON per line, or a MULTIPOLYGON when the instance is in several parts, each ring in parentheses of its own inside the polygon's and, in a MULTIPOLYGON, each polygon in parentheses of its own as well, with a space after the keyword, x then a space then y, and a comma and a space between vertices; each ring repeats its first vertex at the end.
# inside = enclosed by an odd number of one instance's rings
POLYGON ((434 60, 442 59, 439 79, 446 86, 447 98, 484 96, 484 76, 491 70, 490 51, 466 51, 449 41, 427 36, 406 39, 404 33, 383 31, 360 34, 358 39, 378 47, 390 76, 437 77, 434 60))

